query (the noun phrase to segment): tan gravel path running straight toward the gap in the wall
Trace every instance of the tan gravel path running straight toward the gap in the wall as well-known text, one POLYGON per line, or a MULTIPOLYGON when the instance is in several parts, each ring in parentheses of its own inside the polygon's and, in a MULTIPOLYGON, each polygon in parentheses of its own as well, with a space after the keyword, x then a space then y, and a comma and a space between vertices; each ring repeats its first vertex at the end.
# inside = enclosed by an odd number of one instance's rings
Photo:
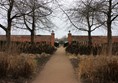
POLYGON ((63 47, 58 48, 33 83, 78 83, 63 47))

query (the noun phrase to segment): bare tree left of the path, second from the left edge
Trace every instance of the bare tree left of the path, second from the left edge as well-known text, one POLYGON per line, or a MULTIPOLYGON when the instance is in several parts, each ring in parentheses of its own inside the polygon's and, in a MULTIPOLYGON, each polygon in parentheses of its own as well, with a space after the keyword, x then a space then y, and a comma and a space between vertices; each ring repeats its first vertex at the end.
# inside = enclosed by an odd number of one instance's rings
MULTIPOLYGON (((49 15, 52 14, 52 9, 49 7, 51 1, 48 0, 24 0, 22 1, 22 7, 20 6, 19 11, 23 14, 24 27, 31 33, 31 43, 34 43, 35 31, 37 29, 50 30, 52 29, 53 23, 49 19, 49 15), (28 14, 26 14, 29 12, 28 14)), ((19 4, 21 5, 21 3, 19 4)))

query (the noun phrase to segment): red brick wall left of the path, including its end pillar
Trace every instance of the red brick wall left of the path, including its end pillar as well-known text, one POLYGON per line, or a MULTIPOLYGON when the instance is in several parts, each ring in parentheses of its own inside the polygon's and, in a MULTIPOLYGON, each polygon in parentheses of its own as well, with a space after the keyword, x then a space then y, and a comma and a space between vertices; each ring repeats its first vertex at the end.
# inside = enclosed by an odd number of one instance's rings
MULTIPOLYGON (((11 41, 14 42, 30 42, 30 35, 11 35, 11 41)), ((5 41, 6 35, 0 35, 0 41, 5 41)), ((51 35, 36 35, 34 37, 34 41, 36 42, 45 42, 47 44, 50 44, 54 46, 55 41, 55 34, 54 31, 51 33, 51 35)))

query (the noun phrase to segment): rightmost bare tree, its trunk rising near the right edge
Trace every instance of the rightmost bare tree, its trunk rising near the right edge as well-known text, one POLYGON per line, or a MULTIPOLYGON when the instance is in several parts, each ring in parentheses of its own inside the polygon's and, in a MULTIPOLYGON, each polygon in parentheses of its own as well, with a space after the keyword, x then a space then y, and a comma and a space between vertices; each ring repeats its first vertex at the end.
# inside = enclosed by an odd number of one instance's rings
POLYGON ((100 0, 95 4, 99 8, 99 23, 105 22, 107 28, 107 51, 106 54, 112 55, 112 25, 118 20, 118 0, 100 0))

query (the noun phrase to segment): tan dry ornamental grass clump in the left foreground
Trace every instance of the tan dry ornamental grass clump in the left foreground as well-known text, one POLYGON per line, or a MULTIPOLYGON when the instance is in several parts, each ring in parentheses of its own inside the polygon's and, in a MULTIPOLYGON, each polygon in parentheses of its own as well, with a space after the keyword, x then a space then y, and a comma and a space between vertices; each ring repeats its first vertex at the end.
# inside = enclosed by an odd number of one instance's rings
POLYGON ((34 58, 0 54, 0 78, 29 78, 35 72, 37 63, 34 58))

